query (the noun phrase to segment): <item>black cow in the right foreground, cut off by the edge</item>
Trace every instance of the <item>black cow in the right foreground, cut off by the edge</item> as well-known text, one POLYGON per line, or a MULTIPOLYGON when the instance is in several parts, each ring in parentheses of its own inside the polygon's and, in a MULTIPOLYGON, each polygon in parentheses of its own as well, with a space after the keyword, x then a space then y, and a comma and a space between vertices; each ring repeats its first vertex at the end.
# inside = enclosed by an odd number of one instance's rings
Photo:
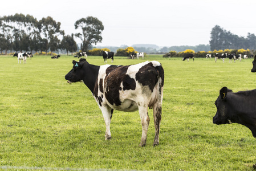
POLYGON ((256 138, 256 89, 234 93, 223 87, 215 105, 217 112, 213 117, 214 124, 242 124, 256 138))

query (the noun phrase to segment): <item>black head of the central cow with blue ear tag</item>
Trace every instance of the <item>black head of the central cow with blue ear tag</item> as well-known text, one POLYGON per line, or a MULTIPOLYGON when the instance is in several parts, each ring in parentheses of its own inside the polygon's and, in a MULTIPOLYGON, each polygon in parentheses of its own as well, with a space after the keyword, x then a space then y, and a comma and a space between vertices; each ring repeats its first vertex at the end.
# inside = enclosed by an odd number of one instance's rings
POLYGON ((79 62, 73 60, 73 68, 68 74, 65 76, 65 79, 68 83, 81 82, 83 79, 83 66, 84 63, 87 63, 86 59, 81 58, 79 62))

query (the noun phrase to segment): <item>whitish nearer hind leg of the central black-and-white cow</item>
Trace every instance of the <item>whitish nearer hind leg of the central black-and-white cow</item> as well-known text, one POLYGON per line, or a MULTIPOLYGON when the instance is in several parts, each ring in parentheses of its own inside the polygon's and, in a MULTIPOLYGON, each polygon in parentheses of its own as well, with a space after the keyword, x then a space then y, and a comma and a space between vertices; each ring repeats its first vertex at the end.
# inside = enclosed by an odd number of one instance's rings
POLYGON ((139 106, 140 120, 142 125, 142 135, 140 146, 145 146, 147 143, 147 133, 148 133, 148 125, 149 125, 149 117, 148 117, 148 105, 140 105, 139 106), (147 106, 147 107, 145 107, 147 106))

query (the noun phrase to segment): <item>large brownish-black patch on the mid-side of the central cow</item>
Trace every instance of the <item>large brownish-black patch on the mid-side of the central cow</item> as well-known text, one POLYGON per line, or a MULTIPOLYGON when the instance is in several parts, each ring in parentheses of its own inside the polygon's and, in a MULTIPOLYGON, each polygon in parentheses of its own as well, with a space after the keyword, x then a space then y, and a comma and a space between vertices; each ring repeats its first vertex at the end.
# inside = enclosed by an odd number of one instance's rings
MULTIPOLYGON (((105 97, 110 104, 121 105, 119 90, 129 66, 109 66, 105 77, 105 97)), ((128 79, 127 79, 128 80, 128 79)), ((127 82, 127 86, 128 82, 127 82)), ((133 87, 133 86, 130 86, 133 87)))

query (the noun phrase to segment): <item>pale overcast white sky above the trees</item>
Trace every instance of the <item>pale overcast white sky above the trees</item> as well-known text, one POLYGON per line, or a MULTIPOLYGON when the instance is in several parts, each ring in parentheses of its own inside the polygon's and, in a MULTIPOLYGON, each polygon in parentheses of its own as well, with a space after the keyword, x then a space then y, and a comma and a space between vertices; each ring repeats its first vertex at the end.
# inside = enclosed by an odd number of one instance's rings
MULTIPOLYGON (((256 35, 255 0, 4 0, 0 17, 48 16, 71 35, 75 22, 96 17, 104 26, 96 46, 156 44, 160 47, 209 44, 216 25, 238 36, 256 35)), ((76 42, 80 40, 76 39, 76 42)))

